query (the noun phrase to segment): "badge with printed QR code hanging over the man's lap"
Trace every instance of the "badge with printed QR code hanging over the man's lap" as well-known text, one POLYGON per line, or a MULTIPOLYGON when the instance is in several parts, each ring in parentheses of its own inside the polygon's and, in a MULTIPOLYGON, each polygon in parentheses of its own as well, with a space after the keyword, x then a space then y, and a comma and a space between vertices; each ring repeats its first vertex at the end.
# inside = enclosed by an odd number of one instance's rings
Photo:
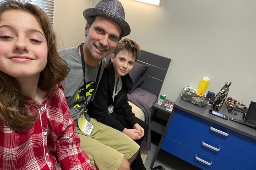
POLYGON ((86 112, 83 111, 78 116, 78 127, 82 132, 84 132, 87 135, 90 135, 93 129, 93 125, 88 120, 86 120, 85 114, 86 112))

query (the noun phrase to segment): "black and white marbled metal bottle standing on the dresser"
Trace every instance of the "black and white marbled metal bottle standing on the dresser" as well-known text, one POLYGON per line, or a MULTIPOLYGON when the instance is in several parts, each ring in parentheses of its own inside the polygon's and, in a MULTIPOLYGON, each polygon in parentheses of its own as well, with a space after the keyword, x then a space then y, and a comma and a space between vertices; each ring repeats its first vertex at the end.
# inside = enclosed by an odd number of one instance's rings
POLYGON ((216 94, 215 100, 212 103, 212 109, 219 111, 222 107, 222 104, 225 102, 227 98, 227 94, 229 93, 229 87, 231 85, 231 81, 226 81, 225 85, 221 88, 221 90, 216 94))

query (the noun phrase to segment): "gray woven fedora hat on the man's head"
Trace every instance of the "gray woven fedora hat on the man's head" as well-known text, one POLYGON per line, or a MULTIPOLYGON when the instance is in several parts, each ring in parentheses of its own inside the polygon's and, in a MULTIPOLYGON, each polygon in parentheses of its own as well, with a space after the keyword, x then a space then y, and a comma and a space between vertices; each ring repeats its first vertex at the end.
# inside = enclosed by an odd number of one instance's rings
POLYGON ((124 20, 124 8, 118 0, 101 0, 95 8, 88 8, 83 12, 85 19, 90 16, 103 16, 118 24, 123 32, 122 37, 131 33, 129 24, 124 20))

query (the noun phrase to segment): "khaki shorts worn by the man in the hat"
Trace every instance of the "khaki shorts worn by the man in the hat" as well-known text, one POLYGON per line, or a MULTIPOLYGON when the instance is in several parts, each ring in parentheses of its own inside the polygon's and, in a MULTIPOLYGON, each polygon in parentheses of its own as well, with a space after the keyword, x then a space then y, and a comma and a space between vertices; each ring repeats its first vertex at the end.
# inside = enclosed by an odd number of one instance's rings
POLYGON ((124 156, 130 159, 140 148, 126 134, 96 119, 90 118, 90 123, 93 125, 91 135, 81 130, 76 130, 76 133, 80 137, 81 147, 99 170, 117 170, 124 156))

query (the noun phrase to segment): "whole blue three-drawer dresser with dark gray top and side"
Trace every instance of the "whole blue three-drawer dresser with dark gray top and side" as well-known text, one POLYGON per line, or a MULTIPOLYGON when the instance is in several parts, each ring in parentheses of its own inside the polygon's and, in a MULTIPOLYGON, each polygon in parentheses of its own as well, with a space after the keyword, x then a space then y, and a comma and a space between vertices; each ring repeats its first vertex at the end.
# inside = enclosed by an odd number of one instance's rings
MULTIPOLYGON (((256 170, 254 129, 211 115, 210 105, 201 108, 180 96, 174 106, 151 167, 163 149, 204 170, 256 170)), ((242 119, 242 113, 228 113, 226 105, 219 112, 242 119)))

